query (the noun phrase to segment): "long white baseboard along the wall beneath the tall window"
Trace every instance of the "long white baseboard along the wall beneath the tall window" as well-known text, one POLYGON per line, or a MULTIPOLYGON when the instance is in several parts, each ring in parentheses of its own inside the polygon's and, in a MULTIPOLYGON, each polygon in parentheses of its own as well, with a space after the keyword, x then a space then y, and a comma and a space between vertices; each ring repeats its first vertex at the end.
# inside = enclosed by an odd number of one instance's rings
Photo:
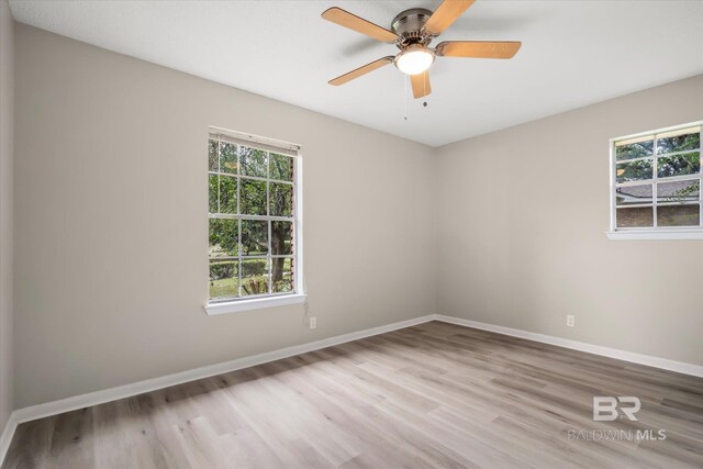
MULTIPOLYGON (((365 331, 323 338, 321 340, 310 342, 308 344, 294 345, 291 347, 280 348, 278 350, 267 351, 259 355, 242 357, 234 360, 209 365, 188 371, 167 375, 159 378, 147 379, 131 384, 105 389, 102 391, 96 391, 87 394, 76 395, 72 398, 62 399, 59 401, 46 402, 44 404, 19 409, 14 411, 13 415, 15 415, 16 423, 20 424, 49 415, 75 411, 77 409, 83 409, 91 405, 116 401, 119 399, 130 398, 132 395, 155 391, 157 389, 168 388, 170 386, 182 384, 185 382, 194 381, 202 378, 209 378, 212 376, 236 371, 256 365, 267 364, 269 361, 280 360, 281 358, 288 358, 294 355, 332 347, 334 345, 344 344, 346 342, 358 340, 359 338, 370 337, 372 335, 383 334, 387 332, 397 331, 399 328, 426 323, 433 321, 434 319, 434 314, 428 314, 426 316, 415 317, 414 320, 401 321, 398 323, 372 327, 365 331)), ((0 464, 2 460, 0 459, 0 464)))

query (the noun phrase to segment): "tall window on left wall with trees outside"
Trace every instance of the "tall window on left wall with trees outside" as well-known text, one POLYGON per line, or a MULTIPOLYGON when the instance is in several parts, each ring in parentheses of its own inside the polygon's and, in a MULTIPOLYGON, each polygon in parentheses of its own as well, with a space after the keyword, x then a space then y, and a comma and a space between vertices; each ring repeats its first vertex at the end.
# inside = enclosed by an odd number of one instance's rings
POLYGON ((210 305, 301 293, 299 159, 295 145, 210 134, 210 305))

